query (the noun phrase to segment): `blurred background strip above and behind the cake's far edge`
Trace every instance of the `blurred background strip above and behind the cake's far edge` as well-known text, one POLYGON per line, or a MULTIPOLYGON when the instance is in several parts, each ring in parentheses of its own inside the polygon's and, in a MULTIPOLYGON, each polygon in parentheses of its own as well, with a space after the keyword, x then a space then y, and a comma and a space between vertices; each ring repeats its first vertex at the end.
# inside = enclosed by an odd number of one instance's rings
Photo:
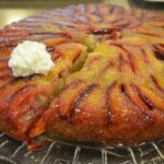
POLYGON ((0 0, 0 27, 48 9, 92 2, 108 2, 125 8, 136 7, 164 12, 164 0, 0 0))

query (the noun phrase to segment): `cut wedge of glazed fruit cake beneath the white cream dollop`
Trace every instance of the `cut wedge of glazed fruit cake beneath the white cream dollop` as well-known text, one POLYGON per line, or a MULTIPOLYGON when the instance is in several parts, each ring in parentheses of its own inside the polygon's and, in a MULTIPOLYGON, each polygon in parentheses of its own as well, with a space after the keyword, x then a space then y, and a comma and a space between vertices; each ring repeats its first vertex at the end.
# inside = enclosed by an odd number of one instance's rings
POLYGON ((28 128, 43 115, 63 86, 65 78, 79 69, 86 55, 83 45, 60 34, 40 37, 39 42, 46 44, 56 65, 46 77, 14 78, 8 67, 10 54, 0 57, 0 129, 17 140, 27 139, 28 128))

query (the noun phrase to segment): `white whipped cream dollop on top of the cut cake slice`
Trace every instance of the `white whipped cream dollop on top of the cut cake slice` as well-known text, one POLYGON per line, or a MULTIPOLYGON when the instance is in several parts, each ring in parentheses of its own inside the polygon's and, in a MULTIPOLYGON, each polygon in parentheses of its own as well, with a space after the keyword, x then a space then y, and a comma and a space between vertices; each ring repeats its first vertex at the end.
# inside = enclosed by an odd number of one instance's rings
POLYGON ((25 40, 13 49, 9 67, 14 77, 46 75, 55 67, 55 63, 44 44, 25 40))

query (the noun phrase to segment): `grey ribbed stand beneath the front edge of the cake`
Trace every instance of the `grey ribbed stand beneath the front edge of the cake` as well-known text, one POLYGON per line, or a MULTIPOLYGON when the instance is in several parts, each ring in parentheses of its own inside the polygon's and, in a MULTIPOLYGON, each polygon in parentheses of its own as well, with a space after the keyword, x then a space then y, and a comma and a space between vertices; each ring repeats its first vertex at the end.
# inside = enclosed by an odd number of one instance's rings
POLYGON ((164 164, 163 154, 164 139, 133 148, 52 141, 33 153, 26 150, 25 142, 0 133, 0 160, 7 164, 164 164))

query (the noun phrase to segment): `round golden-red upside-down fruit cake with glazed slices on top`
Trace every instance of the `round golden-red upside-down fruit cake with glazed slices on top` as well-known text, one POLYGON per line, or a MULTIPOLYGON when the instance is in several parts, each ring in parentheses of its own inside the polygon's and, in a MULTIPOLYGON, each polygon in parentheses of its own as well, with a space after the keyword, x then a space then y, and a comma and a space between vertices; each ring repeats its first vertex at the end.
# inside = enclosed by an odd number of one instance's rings
POLYGON ((1 28, 0 130, 114 145, 163 138, 164 15, 79 4, 1 28), (13 77, 8 61, 23 40, 46 45, 47 75, 13 77))

